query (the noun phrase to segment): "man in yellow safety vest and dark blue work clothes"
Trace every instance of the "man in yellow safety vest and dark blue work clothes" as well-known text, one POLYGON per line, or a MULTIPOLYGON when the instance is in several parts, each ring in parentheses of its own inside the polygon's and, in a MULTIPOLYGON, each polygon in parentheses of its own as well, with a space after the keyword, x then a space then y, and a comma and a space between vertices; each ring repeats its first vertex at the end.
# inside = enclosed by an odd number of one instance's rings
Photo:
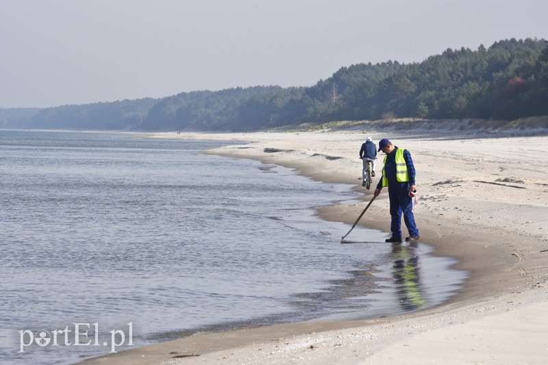
POLYGON ((383 187, 388 187, 390 199, 390 231, 392 236, 386 242, 401 242, 401 213, 406 222, 409 236, 406 241, 420 238, 413 215, 412 197, 416 195, 415 167, 411 154, 405 148, 398 148, 384 138, 379 141, 379 151, 386 154, 382 178, 373 193, 378 196, 383 187))

